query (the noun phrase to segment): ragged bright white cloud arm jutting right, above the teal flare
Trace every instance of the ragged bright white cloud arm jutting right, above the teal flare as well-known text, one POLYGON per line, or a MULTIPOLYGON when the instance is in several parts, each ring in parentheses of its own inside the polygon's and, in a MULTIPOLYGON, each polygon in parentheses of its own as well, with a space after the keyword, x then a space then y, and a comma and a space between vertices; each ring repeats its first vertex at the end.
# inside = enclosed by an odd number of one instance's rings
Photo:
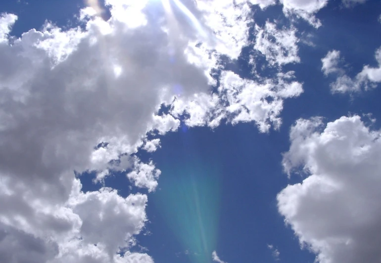
POLYGON ((222 120, 232 124, 254 121, 261 132, 267 132, 272 125, 276 129, 280 127, 283 100, 302 92, 302 84, 294 80, 292 71, 261 82, 223 71, 218 94, 197 95, 189 101, 177 100, 171 112, 175 116, 183 112, 190 114, 186 120, 189 126, 216 127, 222 120))

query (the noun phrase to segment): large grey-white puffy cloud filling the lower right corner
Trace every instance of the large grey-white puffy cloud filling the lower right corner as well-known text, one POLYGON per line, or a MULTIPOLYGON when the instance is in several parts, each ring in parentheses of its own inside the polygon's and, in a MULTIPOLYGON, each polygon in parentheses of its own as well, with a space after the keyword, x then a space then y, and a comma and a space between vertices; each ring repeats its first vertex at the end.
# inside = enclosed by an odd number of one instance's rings
POLYGON ((278 194, 278 209, 320 263, 380 261, 380 135, 357 115, 290 130, 283 166, 306 177, 278 194))

